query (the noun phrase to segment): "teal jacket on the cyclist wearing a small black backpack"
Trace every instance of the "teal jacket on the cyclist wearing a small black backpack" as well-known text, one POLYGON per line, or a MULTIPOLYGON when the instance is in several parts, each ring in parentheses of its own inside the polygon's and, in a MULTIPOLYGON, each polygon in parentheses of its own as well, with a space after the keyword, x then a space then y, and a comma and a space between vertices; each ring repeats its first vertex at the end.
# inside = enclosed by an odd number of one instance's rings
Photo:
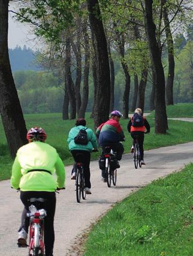
POLYGON ((86 151, 92 152, 93 148, 97 149, 97 147, 98 147, 97 139, 95 137, 94 132, 90 128, 87 128, 86 126, 83 126, 83 125, 78 125, 78 126, 73 127, 68 134, 67 141, 68 141, 69 150, 86 150, 86 151), (79 130, 81 130, 81 129, 86 129, 87 138, 89 140, 87 145, 76 144, 74 141, 74 138, 76 137, 79 130))

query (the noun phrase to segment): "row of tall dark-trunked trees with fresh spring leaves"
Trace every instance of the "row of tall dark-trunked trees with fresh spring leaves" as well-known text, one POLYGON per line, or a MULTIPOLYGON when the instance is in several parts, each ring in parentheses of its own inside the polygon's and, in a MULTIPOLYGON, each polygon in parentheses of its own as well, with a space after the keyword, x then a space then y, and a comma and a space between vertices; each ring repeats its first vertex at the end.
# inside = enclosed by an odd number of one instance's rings
MULTIPOLYGON (((173 104, 174 49, 173 32, 179 26, 186 25, 190 11, 188 0, 36 0, 17 1, 21 8, 17 14, 23 22, 33 23, 37 36, 44 38, 45 51, 42 54, 42 65, 51 67, 65 81, 65 97, 63 103, 63 119, 84 116, 89 95, 89 72, 92 67, 94 84, 93 117, 97 127, 106 121, 109 111, 114 106, 114 60, 112 50, 117 51, 125 75, 123 93, 123 114, 128 117, 128 99, 130 95, 131 76, 135 81, 135 106, 144 108, 144 92, 148 74, 152 77, 152 108, 155 107, 155 131, 166 133, 167 116, 165 103, 165 77, 162 53, 165 46, 168 52, 168 76, 166 83, 167 104, 173 104), (92 43, 92 44, 91 44, 92 43), (73 58, 73 56, 75 58, 73 58), (75 63, 73 60, 76 60, 75 63), (83 61, 84 60, 84 61, 83 61), (73 82, 72 71, 76 69, 73 82), (81 76, 84 69, 83 95, 81 98, 81 76), (138 84, 139 79, 139 84, 138 84)), ((3 65, 9 66, 9 72, 2 78, 4 93, 1 95, 1 114, 7 120, 14 120, 7 104, 12 108, 14 102, 23 122, 17 92, 11 75, 7 51, 7 7, 8 0, 0 0, 1 30, 4 41, 0 44, 0 57, 3 65), (4 25, 2 27, 2 24, 4 25), (3 49, 3 51, 2 51, 3 49), (11 79, 11 80, 10 80, 11 79), (10 103, 11 94, 15 97, 10 103), (10 85, 9 85, 10 86, 10 85), (6 102, 5 103, 5 98, 6 102), (7 115, 9 114, 9 115, 7 115)), ((12 11, 13 12, 13 11, 12 11)), ((2 34, 1 33, 1 34, 2 34)), ((5 70, 2 74, 5 74, 5 70)), ((1 73, 0 73, 1 74, 1 73)), ((1 79, 2 80, 2 79, 1 79)), ((3 118, 2 118, 3 119, 3 118)), ((9 121, 10 121, 9 120, 9 121)), ((15 126, 19 135, 25 130, 25 123, 15 126), (23 125, 22 125, 23 124, 23 125), (19 129, 18 129, 19 128, 19 129), (24 129, 24 130, 23 130, 24 129)), ((14 123, 14 122, 12 122, 14 123)), ((6 126, 4 126, 6 127, 6 126)), ((19 146, 19 145, 18 145, 19 146)), ((17 146, 17 147, 18 147, 17 146)))

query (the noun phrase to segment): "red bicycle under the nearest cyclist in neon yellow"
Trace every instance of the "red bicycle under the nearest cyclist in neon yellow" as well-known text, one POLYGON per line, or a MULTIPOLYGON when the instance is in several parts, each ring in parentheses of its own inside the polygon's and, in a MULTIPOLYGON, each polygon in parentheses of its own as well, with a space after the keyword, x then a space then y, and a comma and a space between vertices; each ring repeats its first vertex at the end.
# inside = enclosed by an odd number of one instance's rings
POLYGON ((44 256, 44 217, 46 217, 46 200, 44 198, 29 199, 29 256, 44 256))

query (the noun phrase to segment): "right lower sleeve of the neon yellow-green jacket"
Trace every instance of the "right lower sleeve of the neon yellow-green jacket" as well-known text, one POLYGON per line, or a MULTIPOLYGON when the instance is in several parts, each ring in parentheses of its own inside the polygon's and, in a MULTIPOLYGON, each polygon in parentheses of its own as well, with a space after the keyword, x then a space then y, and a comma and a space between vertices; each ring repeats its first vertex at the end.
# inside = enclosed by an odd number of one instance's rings
POLYGON ((66 171, 59 155, 57 156, 57 162, 55 163, 55 174, 57 174, 57 187, 65 187, 66 171))

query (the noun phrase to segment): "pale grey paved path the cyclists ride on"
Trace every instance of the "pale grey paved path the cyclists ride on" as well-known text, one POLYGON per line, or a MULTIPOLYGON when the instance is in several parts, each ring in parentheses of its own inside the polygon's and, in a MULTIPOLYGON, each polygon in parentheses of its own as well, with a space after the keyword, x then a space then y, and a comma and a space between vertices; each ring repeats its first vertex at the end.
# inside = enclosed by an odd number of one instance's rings
MULTIPOLYGON (((78 255, 72 251, 76 237, 115 202, 134 189, 193 162, 193 142, 145 151, 144 159, 146 165, 135 170, 132 154, 125 154, 118 169, 117 186, 111 188, 101 182, 98 161, 91 162, 92 195, 81 204, 76 203, 75 182, 70 180, 71 166, 66 167, 66 190, 57 194, 54 256, 78 255)), ((22 211, 19 193, 10 188, 10 180, 0 182, 0 193, 0 254, 26 256, 28 250, 17 247, 22 211)))

